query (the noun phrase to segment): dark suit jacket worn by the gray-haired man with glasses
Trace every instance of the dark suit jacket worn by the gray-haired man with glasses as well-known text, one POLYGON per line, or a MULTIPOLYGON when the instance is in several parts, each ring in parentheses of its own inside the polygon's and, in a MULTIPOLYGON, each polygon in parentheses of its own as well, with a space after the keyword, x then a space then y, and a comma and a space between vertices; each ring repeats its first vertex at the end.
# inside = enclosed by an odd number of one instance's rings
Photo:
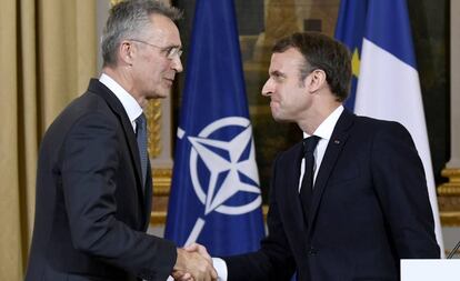
POLYGON ((151 177, 141 183, 131 122, 93 79, 50 126, 40 148, 27 281, 164 281, 172 242, 146 234, 151 177))

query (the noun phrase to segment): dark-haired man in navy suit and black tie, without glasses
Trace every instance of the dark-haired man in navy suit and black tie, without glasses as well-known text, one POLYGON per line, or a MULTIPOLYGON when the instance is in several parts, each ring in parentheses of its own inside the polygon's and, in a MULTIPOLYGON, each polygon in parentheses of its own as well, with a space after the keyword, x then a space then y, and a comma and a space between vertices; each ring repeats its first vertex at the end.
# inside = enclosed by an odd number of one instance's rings
MULTIPOLYGON (((253 253, 214 260, 222 280, 399 280, 400 259, 440 258, 426 177, 399 123, 343 108, 350 56, 320 33, 273 48, 262 94, 304 140, 273 163, 269 234, 253 253)), ((189 251, 206 254, 194 244, 189 251)))

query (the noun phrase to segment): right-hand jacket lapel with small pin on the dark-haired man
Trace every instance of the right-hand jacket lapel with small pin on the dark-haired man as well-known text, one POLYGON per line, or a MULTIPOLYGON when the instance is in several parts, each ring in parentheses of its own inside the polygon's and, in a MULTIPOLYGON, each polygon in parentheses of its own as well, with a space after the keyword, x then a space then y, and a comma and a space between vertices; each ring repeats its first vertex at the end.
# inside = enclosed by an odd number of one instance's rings
MULTIPOLYGON (((314 223, 314 218, 317 215, 322 194, 331 172, 333 171, 337 159, 339 158, 340 152, 348 140, 349 129, 353 123, 353 120, 354 116, 346 109, 337 121, 336 128, 326 149, 320 170, 318 171, 317 180, 314 181, 313 198, 308 217, 308 225, 313 225, 314 223)), ((313 227, 308 229, 309 235, 313 227)))

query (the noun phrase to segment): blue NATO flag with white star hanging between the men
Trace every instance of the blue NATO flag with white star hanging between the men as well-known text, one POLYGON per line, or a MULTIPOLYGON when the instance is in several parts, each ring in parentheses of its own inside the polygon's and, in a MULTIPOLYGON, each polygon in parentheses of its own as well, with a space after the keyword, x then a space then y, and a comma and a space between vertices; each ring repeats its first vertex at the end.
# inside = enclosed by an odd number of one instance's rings
POLYGON ((261 194, 232 1, 197 1, 186 70, 164 235, 212 255, 258 250, 261 194))

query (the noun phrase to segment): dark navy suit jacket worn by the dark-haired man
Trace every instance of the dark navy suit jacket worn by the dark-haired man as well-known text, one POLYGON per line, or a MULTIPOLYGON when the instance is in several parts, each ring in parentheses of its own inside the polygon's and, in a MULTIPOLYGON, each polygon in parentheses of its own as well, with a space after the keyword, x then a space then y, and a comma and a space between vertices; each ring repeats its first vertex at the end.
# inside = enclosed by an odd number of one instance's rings
POLYGON ((343 111, 319 168, 308 225, 299 201, 301 143, 278 155, 269 235, 226 258, 229 281, 399 280, 400 259, 439 258, 423 167, 397 122, 343 111))

